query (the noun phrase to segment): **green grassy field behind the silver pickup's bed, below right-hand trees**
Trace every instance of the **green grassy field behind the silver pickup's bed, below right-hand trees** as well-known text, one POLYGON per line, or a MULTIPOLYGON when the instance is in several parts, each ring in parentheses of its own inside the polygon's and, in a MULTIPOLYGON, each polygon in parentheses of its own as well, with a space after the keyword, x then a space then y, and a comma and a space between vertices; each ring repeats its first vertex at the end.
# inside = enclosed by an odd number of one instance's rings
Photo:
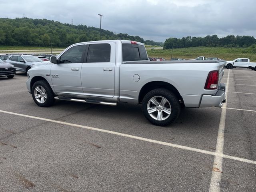
POLYGON ((193 47, 180 49, 153 49, 147 50, 149 57, 159 57, 170 60, 172 58, 194 59, 198 56, 218 57, 224 60, 234 60, 236 58, 250 58, 256 62, 256 53, 250 48, 224 48, 224 47, 193 47))

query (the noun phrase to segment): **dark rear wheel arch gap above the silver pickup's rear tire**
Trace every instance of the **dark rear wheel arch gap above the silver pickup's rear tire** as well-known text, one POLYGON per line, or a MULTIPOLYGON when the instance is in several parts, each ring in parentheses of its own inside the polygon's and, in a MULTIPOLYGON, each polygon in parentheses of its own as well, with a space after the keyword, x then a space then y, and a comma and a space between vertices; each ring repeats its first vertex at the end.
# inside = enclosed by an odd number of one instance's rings
POLYGON ((152 81, 152 82, 146 83, 140 90, 138 102, 141 103, 144 96, 148 92, 150 92, 151 90, 154 90, 156 88, 166 88, 166 89, 170 90, 171 92, 173 92, 175 94, 175 96, 178 98, 178 100, 181 100, 181 102, 183 103, 182 96, 180 95, 180 93, 178 92, 176 87, 174 87, 172 84, 170 84, 168 82, 164 82, 164 81, 152 81))

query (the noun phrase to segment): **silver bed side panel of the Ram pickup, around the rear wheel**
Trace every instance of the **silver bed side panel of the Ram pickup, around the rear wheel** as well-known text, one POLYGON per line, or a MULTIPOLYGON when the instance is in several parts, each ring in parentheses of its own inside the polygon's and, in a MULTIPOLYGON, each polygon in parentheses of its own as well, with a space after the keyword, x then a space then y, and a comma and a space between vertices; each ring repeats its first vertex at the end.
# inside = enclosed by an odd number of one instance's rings
POLYGON ((202 94, 215 94, 217 91, 204 90, 208 73, 217 69, 222 72, 224 63, 223 60, 124 63, 120 66, 120 101, 138 103, 140 90, 145 84, 162 81, 178 90, 185 106, 198 107, 202 94), (133 80, 136 74, 140 76, 138 82, 133 80))

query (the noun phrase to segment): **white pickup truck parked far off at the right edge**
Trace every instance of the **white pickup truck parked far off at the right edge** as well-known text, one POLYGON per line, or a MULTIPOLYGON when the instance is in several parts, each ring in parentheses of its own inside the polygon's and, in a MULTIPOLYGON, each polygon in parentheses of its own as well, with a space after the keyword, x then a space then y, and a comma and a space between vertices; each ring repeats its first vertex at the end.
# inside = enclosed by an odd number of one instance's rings
POLYGON ((248 58, 237 58, 233 61, 227 61, 224 65, 227 69, 232 69, 236 67, 249 68, 256 71, 256 63, 250 62, 248 58))

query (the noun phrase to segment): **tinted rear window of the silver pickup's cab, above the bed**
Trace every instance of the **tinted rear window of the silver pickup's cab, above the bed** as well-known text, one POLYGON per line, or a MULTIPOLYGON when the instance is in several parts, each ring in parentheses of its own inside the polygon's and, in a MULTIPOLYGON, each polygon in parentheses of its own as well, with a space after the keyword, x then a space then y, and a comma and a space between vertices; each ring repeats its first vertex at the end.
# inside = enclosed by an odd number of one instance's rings
POLYGON ((122 44, 123 61, 148 60, 144 46, 138 44, 122 44))

